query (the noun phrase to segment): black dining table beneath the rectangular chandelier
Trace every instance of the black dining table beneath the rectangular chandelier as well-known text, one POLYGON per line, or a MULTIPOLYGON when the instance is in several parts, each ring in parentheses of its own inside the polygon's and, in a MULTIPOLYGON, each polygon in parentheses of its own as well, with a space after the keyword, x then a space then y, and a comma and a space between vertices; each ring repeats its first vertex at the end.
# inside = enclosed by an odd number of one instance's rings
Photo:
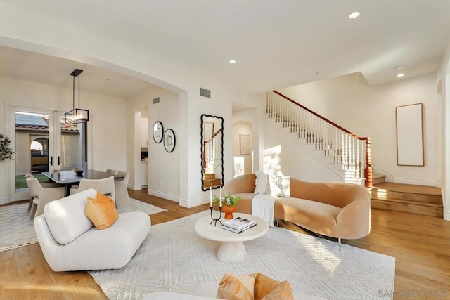
POLYGON ((52 172, 42 172, 45 176, 49 177, 51 181, 54 181, 60 185, 65 185, 65 196, 70 195, 70 187, 72 185, 79 184, 79 181, 83 178, 86 179, 104 179, 110 176, 114 176, 115 181, 120 181, 124 179, 122 175, 113 175, 103 171, 97 170, 84 170, 81 176, 78 176, 73 170, 66 171, 52 171, 52 172))

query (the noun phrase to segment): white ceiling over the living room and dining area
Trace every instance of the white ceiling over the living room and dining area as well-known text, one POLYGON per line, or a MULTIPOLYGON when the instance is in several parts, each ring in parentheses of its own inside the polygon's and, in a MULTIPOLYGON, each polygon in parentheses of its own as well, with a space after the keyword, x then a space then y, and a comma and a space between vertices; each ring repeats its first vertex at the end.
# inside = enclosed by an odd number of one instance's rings
MULTIPOLYGON (((449 0, 0 1, 257 93, 354 72, 385 84, 401 80, 400 65, 403 79, 430 74, 450 30, 449 0), (361 16, 349 19, 352 11, 361 16)), ((86 91, 129 98, 149 87, 0 47, 0 76, 71 87, 75 68, 86 91)))

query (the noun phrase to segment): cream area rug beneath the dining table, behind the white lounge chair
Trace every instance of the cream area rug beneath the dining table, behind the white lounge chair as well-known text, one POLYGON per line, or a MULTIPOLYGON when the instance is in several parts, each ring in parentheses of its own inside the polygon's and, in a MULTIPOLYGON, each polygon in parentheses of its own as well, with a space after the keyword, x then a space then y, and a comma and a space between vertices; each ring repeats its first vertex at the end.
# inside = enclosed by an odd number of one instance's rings
MULTIPOLYGON (((142 211, 146 214, 158 214, 166 211, 160 207, 129 198, 130 207, 119 209, 119 213, 142 211)), ((0 252, 37 243, 33 220, 27 211, 28 203, 0 207, 0 252)))

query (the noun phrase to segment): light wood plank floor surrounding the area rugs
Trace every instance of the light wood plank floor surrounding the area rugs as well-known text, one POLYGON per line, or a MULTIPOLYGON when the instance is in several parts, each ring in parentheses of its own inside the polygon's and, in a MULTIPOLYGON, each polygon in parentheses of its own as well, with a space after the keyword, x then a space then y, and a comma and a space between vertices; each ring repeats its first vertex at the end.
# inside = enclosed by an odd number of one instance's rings
MULTIPOLYGON (((209 208, 209 204, 205 204, 186 209, 176 202, 147 195, 145 190, 130 190, 129 195, 168 209, 151 216, 153 225, 209 208)), ((290 223, 281 221, 280 226, 309 234, 290 223)), ((360 240, 343 242, 396 258, 394 299, 450 299, 450 221, 372 209, 371 234, 360 240)), ((385 292, 389 291, 380 291, 382 294, 385 292)), ((86 272, 53 272, 39 244, 33 244, 0 252, 0 299, 106 297, 86 272)))

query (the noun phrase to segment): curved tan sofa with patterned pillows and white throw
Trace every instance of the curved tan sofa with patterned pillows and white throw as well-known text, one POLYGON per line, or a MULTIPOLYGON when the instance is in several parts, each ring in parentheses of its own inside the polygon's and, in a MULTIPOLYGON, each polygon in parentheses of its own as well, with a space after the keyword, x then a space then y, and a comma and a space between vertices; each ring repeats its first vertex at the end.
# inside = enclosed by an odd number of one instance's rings
MULTIPOLYGON (((236 211, 252 213, 255 174, 233 178, 224 193, 240 196, 236 211)), ((371 232, 371 198, 361 185, 343 182, 311 183, 290 178, 290 196, 276 197, 274 219, 295 223, 319 235, 359 239, 371 232)))

